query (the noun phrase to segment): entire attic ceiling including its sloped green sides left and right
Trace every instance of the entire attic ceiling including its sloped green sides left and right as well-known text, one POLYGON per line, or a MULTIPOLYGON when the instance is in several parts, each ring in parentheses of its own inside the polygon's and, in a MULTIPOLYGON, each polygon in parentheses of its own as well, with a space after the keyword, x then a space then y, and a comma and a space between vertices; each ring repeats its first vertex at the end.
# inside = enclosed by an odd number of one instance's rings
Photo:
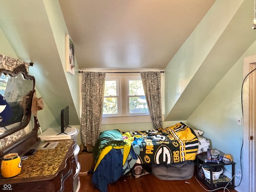
POLYGON ((255 41, 253 0, 232 2, 0 0, 0 28, 18 58, 34 62, 30 74, 56 119, 69 105, 70 124, 80 124, 78 69, 161 69, 165 120, 186 120, 255 41))

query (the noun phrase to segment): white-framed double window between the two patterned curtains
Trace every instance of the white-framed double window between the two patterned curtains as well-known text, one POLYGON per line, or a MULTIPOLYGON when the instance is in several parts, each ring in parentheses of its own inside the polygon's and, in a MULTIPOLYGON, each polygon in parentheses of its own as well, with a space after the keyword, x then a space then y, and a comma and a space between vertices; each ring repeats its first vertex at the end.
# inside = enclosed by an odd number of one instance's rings
MULTIPOLYGON (((82 83, 81 77, 82 75, 80 76, 79 82, 80 92, 82 83)), ((138 86, 140 89, 135 89, 136 91, 132 89, 132 86, 129 86, 129 84, 138 83, 137 80, 141 82, 141 76, 138 72, 108 73, 106 71, 105 86, 107 86, 107 88, 104 90, 102 124, 151 122, 149 113, 146 111, 143 113, 143 110, 146 110, 147 108, 146 100, 144 99, 144 90, 143 94, 140 91, 143 86, 138 86), (131 88, 129 89, 129 87, 131 88), (133 101, 133 99, 137 99, 138 102, 133 101), (139 113, 136 113, 135 111, 139 111, 139 113)), ((162 114, 164 114, 164 73, 161 74, 161 98, 162 114)), ((80 94, 80 113, 82 114, 81 110, 82 94, 80 94)))

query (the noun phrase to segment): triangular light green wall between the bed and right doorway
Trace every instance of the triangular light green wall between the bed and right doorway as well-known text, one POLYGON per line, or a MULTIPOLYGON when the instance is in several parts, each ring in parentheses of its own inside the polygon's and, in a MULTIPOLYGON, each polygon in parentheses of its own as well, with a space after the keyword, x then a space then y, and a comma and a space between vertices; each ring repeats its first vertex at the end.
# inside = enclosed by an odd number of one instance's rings
MULTIPOLYGON (((210 139, 211 148, 232 154, 236 162, 236 172, 240 169, 243 138, 243 126, 237 124, 237 117, 242 117, 243 59, 255 55, 255 50, 256 42, 248 48, 187 119, 189 126, 204 131, 203 136, 210 139)), ((242 167, 243 170, 248 168, 247 165, 242 167)), ((231 167, 227 170, 231 172, 231 167)), ((240 181, 239 178, 236 180, 240 181)))

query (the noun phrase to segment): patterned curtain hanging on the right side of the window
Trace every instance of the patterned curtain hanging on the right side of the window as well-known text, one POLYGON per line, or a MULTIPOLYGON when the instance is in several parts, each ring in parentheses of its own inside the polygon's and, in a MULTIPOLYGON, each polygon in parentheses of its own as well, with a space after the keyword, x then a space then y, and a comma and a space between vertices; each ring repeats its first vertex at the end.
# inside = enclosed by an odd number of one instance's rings
POLYGON ((160 72, 140 72, 148 103, 148 110, 154 129, 162 128, 161 74, 160 72))

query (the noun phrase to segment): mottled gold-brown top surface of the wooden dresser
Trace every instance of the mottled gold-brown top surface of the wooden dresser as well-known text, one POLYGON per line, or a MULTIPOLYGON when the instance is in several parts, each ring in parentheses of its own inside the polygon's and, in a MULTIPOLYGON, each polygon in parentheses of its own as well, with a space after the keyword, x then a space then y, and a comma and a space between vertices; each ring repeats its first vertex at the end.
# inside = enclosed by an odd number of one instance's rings
MULTIPOLYGON (((28 156, 28 159, 22 160, 20 174, 9 179, 54 175, 58 171, 58 168, 74 140, 46 142, 58 142, 58 144, 54 149, 37 150, 33 155, 28 156)), ((4 180, 2 176, 1 178, 4 180)))

